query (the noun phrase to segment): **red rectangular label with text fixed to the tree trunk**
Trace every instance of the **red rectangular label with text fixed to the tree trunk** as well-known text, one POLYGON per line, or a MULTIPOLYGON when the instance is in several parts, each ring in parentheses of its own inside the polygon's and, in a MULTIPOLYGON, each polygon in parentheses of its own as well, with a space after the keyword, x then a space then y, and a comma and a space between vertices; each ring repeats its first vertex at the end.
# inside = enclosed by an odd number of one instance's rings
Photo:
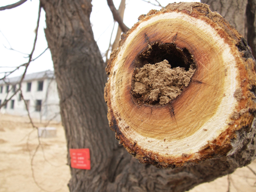
POLYGON ((71 167, 76 169, 90 169, 90 151, 88 148, 70 148, 71 167))

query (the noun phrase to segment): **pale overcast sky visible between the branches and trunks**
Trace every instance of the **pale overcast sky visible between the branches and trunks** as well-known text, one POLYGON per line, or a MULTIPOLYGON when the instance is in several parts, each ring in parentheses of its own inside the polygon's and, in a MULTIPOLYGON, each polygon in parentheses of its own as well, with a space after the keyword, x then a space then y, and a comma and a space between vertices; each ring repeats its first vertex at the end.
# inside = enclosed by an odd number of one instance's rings
MULTIPOLYGON (((1 0, 0 6, 6 6, 16 3, 18 0, 1 0)), ((168 3, 173 3, 175 0, 158 0, 162 6, 168 3)), ((187 2, 200 0, 183 0, 187 2)), ((113 0, 116 8, 118 9, 121 0, 113 0)), ((156 3, 155 0, 151 0, 156 3)), ((178 2, 176 0, 176 2, 178 2)), ((111 32, 113 30, 113 16, 108 8, 107 0, 92 0, 93 10, 91 13, 90 21, 93 26, 94 38, 97 41, 102 55, 108 49, 111 32)), ((38 16, 39 0, 28 0, 21 6, 14 9, 0 11, 0 78, 3 77, 3 72, 13 70, 20 64, 28 61, 28 54, 32 50, 33 41, 35 38, 35 27, 38 16), (10 48, 15 49, 10 50, 10 48), (22 54, 22 53, 25 54, 22 54)), ((159 6, 153 6, 143 0, 126 0, 126 8, 124 15, 124 23, 131 28, 134 23, 138 21, 138 17, 142 14, 147 14, 151 9, 161 9, 159 6)), ((112 41, 115 39, 117 23, 113 32, 112 41)), ((42 9, 41 19, 38 29, 38 40, 35 47, 33 58, 40 55, 48 46, 44 35, 45 12, 42 9)), ((13 76, 19 76, 23 73, 24 68, 13 73, 13 76)), ((34 73, 44 70, 53 70, 52 58, 49 49, 41 55, 40 58, 31 62, 27 73, 34 73)))

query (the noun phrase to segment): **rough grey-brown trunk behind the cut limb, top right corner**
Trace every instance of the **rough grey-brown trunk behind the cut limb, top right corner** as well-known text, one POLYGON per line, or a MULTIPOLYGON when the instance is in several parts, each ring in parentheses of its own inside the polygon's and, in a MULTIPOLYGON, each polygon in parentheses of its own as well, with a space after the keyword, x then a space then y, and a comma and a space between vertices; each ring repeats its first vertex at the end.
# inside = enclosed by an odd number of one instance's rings
POLYGON ((201 0, 218 12, 246 39, 256 58, 256 0, 201 0))

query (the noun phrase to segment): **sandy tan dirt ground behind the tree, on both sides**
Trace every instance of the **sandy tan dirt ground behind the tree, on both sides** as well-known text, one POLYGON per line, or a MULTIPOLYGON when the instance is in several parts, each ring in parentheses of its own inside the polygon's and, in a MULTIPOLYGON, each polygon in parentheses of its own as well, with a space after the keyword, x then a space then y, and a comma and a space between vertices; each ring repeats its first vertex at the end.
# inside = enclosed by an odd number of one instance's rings
MULTIPOLYGON (((35 119, 34 122, 38 127, 46 123, 35 119)), ((37 130, 32 128, 27 117, 0 114, 0 192, 69 191, 70 169, 64 130, 60 123, 52 122, 48 127, 57 129, 57 137, 41 138, 41 145, 38 145, 37 130)), ((249 167, 256 172, 256 160, 249 167)), ((247 167, 237 169, 230 178, 230 192, 256 192, 256 175, 247 167)), ((227 190, 225 176, 189 192, 227 190)))

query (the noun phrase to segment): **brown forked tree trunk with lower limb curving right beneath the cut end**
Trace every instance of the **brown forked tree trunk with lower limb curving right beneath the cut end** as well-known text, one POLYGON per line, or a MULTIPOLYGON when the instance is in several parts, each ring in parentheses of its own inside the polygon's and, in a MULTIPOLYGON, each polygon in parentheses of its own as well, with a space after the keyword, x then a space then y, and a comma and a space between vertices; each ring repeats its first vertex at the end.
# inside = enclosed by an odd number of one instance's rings
MULTIPOLYGON (((67 148, 89 148, 91 169, 71 170, 71 192, 182 192, 250 163, 256 152, 255 122, 237 138, 239 153, 197 166, 157 169, 138 163, 109 129, 103 99, 105 66, 90 26, 90 0, 41 0, 52 53, 67 148)), ((241 134, 240 134, 241 133, 241 134)), ((70 154, 68 154, 70 165, 70 154)))

